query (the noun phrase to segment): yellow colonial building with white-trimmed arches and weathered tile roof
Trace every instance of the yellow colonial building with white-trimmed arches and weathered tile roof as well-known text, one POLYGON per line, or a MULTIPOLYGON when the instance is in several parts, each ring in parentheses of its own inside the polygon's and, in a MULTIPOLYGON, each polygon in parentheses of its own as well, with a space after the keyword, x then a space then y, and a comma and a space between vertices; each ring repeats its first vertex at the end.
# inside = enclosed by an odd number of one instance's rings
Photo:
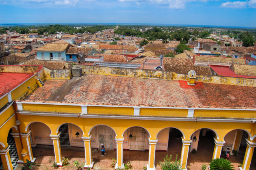
POLYGON ((13 169, 8 134, 15 139, 18 163, 35 161, 32 146, 45 144, 54 146, 62 166, 61 146, 76 146, 85 148, 85 168, 92 168, 91 149, 104 143, 116 150, 115 168, 124 167, 124 149, 148 150, 147 169, 154 170, 156 151, 167 151, 176 132, 182 168, 200 138, 211 134, 213 159, 243 144, 241 169, 249 170, 256 147, 256 80, 228 77, 225 83, 225 77, 208 81, 202 75, 108 69, 84 67, 83 76, 63 80, 45 78, 40 65, 1 66, 4 169, 13 169))

